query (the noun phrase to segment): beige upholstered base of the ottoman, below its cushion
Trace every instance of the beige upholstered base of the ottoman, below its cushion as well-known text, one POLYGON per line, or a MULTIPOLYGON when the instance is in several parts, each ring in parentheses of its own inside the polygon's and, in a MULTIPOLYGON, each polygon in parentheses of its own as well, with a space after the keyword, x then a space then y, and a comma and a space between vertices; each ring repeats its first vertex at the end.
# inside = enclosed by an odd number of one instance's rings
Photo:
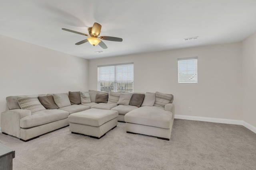
POLYGON ((88 135, 96 139, 103 137, 108 131, 114 129, 117 125, 117 117, 104 123, 99 127, 94 127, 90 125, 82 125, 77 123, 69 123, 69 129, 72 133, 78 133, 83 135, 88 135))

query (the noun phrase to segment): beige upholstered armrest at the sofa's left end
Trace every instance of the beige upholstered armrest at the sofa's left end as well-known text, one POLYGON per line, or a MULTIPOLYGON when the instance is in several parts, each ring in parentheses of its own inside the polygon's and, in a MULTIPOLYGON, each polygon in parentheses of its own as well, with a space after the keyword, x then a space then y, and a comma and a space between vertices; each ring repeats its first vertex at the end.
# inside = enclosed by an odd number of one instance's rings
POLYGON ((1 114, 1 131, 20 138, 20 119, 31 115, 30 110, 12 109, 1 114))

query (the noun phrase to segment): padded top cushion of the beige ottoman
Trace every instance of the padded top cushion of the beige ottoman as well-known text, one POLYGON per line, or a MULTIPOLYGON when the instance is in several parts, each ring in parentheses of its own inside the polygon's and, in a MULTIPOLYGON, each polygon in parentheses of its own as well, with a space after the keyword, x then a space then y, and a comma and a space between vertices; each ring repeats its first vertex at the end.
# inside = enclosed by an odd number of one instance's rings
POLYGON ((114 110, 89 109, 68 116, 68 121, 80 125, 99 127, 116 117, 118 117, 118 112, 114 110))

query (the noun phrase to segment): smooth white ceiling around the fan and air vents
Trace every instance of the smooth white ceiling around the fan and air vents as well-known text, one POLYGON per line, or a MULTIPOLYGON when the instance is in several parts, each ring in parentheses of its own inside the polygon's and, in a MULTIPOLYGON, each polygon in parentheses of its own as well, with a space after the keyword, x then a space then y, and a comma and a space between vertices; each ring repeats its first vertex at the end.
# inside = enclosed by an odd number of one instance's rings
POLYGON ((238 42, 254 32, 256 0, 0 0, 1 35, 85 59, 238 42), (123 41, 75 45, 87 37, 62 30, 88 34, 94 22, 100 35, 123 41))

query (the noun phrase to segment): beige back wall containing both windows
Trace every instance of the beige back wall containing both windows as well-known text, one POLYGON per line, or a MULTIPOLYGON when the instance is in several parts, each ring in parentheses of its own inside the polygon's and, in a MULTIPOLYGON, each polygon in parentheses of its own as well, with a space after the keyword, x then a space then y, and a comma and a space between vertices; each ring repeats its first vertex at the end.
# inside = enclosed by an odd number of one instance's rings
POLYGON ((241 60, 241 43, 94 59, 89 88, 97 90, 98 65, 134 62, 134 92, 172 93, 179 115, 242 120, 241 60), (183 57, 198 57, 198 84, 178 84, 183 57))

